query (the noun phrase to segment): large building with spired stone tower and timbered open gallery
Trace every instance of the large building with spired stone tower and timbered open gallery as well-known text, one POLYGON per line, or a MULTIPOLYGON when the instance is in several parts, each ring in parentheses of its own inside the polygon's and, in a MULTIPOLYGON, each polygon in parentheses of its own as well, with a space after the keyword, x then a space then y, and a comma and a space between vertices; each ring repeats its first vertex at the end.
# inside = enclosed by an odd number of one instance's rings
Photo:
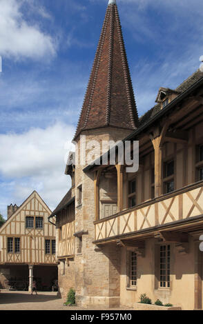
POLYGON ((133 307, 147 294, 183 310, 203 307, 203 74, 164 87, 138 118, 110 0, 74 137, 78 163, 71 153, 66 167, 72 189, 50 216, 57 219, 59 290, 65 297, 74 287, 79 305, 133 307), (139 169, 111 163, 108 149, 89 163, 90 146, 84 165, 81 135, 87 145, 130 141, 132 156, 139 141, 139 169))

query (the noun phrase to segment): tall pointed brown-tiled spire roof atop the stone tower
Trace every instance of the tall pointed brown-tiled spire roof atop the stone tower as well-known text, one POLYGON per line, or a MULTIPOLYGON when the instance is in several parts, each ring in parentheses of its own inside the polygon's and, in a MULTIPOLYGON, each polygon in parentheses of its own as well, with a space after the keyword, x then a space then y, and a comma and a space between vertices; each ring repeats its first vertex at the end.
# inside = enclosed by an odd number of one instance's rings
POLYGON ((104 127, 135 130, 137 108, 115 0, 106 10, 75 138, 104 127))

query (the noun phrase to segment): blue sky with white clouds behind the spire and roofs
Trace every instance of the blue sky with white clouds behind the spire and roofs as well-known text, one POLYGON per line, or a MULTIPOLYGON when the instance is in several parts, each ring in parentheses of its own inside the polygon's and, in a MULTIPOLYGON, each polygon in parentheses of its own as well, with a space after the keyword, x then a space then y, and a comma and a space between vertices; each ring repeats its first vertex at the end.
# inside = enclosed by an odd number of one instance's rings
MULTIPOLYGON (((108 0, 0 0, 0 212, 70 187, 67 150, 108 0)), ((117 0, 139 116, 199 68, 202 1, 117 0)))

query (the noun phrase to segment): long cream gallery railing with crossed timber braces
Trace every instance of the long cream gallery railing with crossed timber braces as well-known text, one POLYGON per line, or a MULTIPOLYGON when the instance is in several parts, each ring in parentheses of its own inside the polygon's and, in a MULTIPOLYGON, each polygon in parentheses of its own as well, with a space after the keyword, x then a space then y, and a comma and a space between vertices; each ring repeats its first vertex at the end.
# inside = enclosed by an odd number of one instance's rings
POLYGON ((95 241, 200 215, 203 218, 203 181, 95 221, 95 241))

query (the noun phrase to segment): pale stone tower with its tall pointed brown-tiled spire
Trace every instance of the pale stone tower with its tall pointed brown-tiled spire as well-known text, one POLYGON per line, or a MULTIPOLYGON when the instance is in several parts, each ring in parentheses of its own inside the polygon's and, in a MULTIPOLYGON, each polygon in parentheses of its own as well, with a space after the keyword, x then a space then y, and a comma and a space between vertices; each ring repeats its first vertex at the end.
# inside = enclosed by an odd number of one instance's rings
MULTIPOLYGON (((81 135, 86 142, 118 141, 138 126, 133 86, 115 0, 108 2, 93 69, 74 141, 79 156, 81 135)), ((99 152, 101 154, 101 152, 99 152)), ((99 250, 95 240, 94 175, 88 165, 75 168, 75 289, 79 305, 119 305, 119 250, 99 250), (82 198, 81 198, 82 197, 82 198)))

